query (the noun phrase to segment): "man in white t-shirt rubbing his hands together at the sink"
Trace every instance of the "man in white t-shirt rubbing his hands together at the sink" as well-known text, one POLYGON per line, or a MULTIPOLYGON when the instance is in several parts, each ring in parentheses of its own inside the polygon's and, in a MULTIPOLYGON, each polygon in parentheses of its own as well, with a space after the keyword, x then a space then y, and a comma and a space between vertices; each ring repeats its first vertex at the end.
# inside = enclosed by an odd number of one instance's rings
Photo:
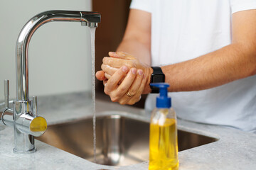
POLYGON ((179 118, 256 132, 255 0, 134 0, 130 8, 117 52, 96 74, 112 101, 139 101, 162 71, 179 118))

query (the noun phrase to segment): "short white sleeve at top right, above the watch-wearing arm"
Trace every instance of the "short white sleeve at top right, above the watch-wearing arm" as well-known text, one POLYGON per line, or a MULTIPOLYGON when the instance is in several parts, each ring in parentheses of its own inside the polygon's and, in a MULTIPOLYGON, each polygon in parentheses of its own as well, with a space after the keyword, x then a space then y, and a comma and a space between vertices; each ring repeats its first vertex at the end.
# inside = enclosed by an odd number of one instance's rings
POLYGON ((256 0, 230 0, 232 13, 256 9, 256 0))

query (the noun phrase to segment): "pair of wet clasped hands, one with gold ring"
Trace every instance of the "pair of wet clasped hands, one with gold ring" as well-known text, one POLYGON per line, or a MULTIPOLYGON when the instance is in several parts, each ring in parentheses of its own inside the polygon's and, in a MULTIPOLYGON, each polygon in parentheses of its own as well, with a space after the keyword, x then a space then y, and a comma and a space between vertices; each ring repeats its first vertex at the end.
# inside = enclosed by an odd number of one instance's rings
POLYGON ((96 73, 96 78, 103 81, 104 92, 113 102, 133 105, 146 94, 149 67, 126 52, 109 52, 109 55, 103 58, 102 70, 96 73))

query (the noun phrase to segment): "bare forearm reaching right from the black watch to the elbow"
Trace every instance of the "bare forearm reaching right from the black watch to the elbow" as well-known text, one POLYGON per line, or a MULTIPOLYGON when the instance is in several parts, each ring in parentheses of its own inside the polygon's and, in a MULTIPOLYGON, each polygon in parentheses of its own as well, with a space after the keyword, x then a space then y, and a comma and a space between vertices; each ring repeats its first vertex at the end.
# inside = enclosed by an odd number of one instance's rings
POLYGON ((252 48, 232 44, 193 60, 161 67, 169 91, 210 89, 254 75, 256 52, 252 48))

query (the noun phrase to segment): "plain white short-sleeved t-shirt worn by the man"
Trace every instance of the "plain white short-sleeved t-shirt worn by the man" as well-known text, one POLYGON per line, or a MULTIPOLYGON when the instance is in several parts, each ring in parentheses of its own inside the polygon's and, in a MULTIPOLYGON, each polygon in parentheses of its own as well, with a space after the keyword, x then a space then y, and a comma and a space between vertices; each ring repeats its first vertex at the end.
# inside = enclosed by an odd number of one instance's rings
MULTIPOLYGON (((151 60, 161 66, 230 45, 232 14, 255 9, 256 0, 133 0, 130 8, 151 13, 151 60)), ((146 110, 156 96, 149 94, 146 110)), ((169 96, 178 118, 256 132, 256 76, 169 96)))

